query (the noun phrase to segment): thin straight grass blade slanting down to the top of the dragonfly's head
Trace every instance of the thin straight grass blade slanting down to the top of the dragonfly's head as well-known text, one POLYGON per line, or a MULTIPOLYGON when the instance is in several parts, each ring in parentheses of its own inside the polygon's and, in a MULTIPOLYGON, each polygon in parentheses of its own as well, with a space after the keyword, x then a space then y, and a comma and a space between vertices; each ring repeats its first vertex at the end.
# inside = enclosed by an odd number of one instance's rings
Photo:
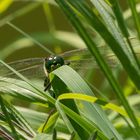
POLYGON ((48 52, 49 54, 54 54, 52 51, 50 51, 48 48, 46 48, 43 44, 41 44, 40 42, 38 42, 37 40, 35 40, 32 36, 30 36, 29 34, 25 33, 23 30, 21 30, 19 27, 15 26, 13 23, 11 22, 6 22, 10 27, 14 28, 16 31, 20 32, 22 35, 26 36, 27 38, 31 39, 35 44, 37 44, 38 46, 40 46, 43 50, 45 50, 46 52, 48 52))

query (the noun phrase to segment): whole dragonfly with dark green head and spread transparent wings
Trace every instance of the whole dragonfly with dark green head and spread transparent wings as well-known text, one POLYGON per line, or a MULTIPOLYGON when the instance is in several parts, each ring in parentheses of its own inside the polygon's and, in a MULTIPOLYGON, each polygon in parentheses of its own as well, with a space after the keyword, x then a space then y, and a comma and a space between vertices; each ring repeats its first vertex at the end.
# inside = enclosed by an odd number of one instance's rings
MULTIPOLYGON (((106 47, 99 47, 99 50, 111 68, 120 65, 119 60, 106 47)), ((51 55, 47 58, 27 58, 8 63, 12 68, 27 78, 44 78, 44 91, 51 86, 49 73, 63 65, 69 65, 74 69, 96 69, 99 68, 95 58, 87 48, 66 51, 60 55, 51 55)), ((0 64, 0 76, 17 78, 5 66, 0 64)))

